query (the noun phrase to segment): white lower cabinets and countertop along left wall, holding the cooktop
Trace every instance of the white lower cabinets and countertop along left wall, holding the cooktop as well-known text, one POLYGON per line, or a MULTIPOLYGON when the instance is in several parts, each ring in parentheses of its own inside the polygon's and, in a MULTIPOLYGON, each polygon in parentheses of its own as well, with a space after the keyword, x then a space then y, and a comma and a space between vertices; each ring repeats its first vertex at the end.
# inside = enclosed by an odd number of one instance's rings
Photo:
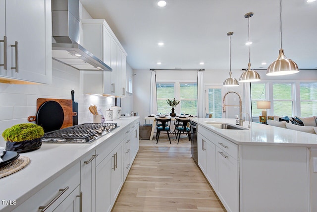
POLYGON ((114 119, 118 127, 91 143, 20 153, 30 163, 0 178, 0 212, 110 211, 139 149, 138 119, 114 119))

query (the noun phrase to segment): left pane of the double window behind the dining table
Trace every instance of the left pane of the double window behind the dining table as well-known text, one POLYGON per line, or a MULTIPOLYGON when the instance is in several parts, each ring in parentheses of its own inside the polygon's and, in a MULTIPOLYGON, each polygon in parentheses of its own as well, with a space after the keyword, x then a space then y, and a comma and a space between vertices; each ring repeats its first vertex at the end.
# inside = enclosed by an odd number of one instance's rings
POLYGON ((174 83, 157 83, 158 113, 169 114, 170 106, 166 103, 167 99, 175 96, 174 83))

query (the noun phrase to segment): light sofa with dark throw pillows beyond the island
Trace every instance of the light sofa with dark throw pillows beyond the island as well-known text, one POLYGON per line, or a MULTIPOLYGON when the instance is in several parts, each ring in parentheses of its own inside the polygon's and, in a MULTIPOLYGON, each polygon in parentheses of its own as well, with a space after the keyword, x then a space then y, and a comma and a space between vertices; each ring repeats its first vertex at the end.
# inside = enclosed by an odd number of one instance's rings
POLYGON ((267 120, 267 124, 275 127, 317 134, 317 116, 295 116, 291 118, 288 116, 274 116, 274 120, 267 120))

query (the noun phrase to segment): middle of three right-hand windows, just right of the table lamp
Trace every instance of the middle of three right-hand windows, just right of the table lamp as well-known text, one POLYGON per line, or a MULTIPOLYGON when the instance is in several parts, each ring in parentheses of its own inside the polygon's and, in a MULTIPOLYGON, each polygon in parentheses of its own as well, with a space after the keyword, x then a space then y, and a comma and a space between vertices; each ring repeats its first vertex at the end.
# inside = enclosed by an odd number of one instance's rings
POLYGON ((291 83, 273 84, 273 108, 276 116, 293 116, 293 98, 291 83))

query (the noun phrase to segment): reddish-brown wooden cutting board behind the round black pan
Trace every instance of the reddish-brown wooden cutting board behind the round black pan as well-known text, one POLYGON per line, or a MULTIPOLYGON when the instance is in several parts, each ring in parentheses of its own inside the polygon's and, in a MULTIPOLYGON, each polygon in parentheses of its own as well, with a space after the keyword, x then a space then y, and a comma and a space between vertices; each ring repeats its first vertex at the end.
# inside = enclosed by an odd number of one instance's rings
MULTIPOLYGON (((77 116, 77 112, 73 112, 73 101, 71 99, 47 99, 47 98, 38 98, 36 101, 36 110, 38 111, 41 105, 47 101, 55 101, 60 104, 60 106, 63 108, 64 111, 64 121, 63 125, 60 129, 67 128, 73 126, 73 116, 77 116)), ((53 115, 53 114, 52 114, 53 115)), ((29 117, 29 121, 35 121, 32 120, 34 116, 29 117)), ((35 119, 35 118, 34 118, 35 119)), ((49 121, 48 117, 48 121, 49 121)))

